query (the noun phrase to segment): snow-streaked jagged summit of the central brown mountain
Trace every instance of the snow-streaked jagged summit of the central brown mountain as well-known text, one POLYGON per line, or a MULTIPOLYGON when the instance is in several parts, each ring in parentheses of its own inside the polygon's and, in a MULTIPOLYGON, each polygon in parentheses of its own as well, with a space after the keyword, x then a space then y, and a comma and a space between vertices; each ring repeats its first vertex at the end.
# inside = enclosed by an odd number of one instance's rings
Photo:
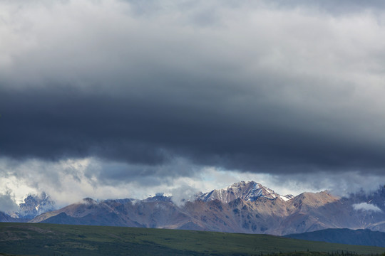
POLYGON ((270 188, 262 186, 255 181, 240 181, 228 186, 227 188, 215 189, 213 191, 203 193, 198 196, 202 201, 219 200, 222 203, 229 203, 237 198, 242 198, 245 201, 256 201, 258 198, 274 199, 287 201, 292 198, 292 195, 281 196, 270 188))

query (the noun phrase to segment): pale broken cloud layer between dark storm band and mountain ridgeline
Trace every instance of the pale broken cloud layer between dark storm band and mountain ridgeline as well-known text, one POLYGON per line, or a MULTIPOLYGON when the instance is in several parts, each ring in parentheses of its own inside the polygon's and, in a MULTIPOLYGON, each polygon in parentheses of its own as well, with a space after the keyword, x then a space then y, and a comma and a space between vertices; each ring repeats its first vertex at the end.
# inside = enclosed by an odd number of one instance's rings
POLYGON ((377 191, 381 176, 352 173, 256 174, 195 166, 178 159, 161 166, 125 164, 101 159, 14 161, 0 159, 0 210, 15 208, 27 194, 45 191, 58 206, 94 199, 138 198, 155 193, 173 195, 176 203, 195 193, 225 188, 239 181, 257 181, 275 192, 297 196, 304 191, 328 190, 337 196, 377 191), (178 170, 181 170, 179 175, 178 170), (188 171, 189 170, 189 171, 188 171), (183 172, 184 171, 184 172, 183 172), (171 176, 171 174, 174 174, 171 176))

